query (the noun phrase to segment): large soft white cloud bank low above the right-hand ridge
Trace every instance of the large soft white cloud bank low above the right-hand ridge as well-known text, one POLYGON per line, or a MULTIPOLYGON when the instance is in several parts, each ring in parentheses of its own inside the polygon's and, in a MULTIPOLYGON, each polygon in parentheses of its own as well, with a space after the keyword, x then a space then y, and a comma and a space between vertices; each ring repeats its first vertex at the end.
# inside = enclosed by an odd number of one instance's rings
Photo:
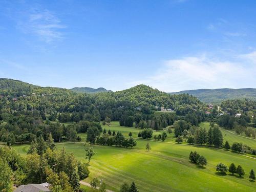
POLYGON ((255 87, 256 52, 246 57, 254 58, 254 63, 248 63, 244 57, 233 62, 207 55, 167 60, 152 77, 130 84, 148 84, 165 92, 255 87))

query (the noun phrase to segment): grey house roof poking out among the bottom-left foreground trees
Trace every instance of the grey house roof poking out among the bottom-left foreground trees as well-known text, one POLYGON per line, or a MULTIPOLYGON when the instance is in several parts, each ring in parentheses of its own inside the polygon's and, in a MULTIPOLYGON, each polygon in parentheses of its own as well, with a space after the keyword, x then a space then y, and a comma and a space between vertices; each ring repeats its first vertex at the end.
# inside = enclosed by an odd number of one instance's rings
POLYGON ((49 183, 20 185, 14 192, 50 192, 49 183))

